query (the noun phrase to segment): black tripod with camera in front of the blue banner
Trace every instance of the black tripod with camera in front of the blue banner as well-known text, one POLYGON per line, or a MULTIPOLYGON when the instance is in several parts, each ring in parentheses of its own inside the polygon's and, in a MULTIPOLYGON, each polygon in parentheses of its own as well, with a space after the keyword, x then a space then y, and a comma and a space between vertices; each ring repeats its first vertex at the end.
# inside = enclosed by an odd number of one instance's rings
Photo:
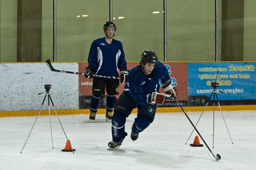
MULTIPOLYGON (((218 73, 217 73, 217 75, 218 75, 218 73)), ((216 83, 216 81, 215 81, 215 82, 212 82, 212 86, 213 86, 213 92, 211 93, 211 95, 210 95, 210 97, 209 97, 209 99, 208 99, 208 101, 207 101, 207 104, 205 105, 205 107, 204 107, 204 109, 203 109, 203 111, 202 111, 202 113, 201 113, 201 115, 200 115, 200 117, 199 117, 199 119, 198 119, 198 121, 197 121, 195 127, 197 126, 197 124, 198 124, 198 122, 199 122, 199 120, 200 120, 200 118, 201 118, 201 116, 202 116, 204 110, 206 109, 206 107, 207 107, 207 105, 209 104, 209 101, 211 100, 211 97, 212 97, 212 95, 213 95, 213 148, 214 148, 214 116, 215 116, 215 114, 214 114, 214 113, 215 113, 215 112, 214 112, 214 111, 215 111, 214 107, 215 107, 215 96, 216 96, 216 99, 217 99, 217 102, 218 102, 218 105, 219 105, 219 108, 220 108, 220 111, 221 111, 223 120, 224 120, 224 122, 225 122, 227 131, 228 131, 228 126, 227 126, 227 123, 226 123, 226 121, 225 121, 224 115, 223 115, 223 113, 222 113, 222 110, 221 110, 221 107, 220 107, 220 103, 219 103, 219 99, 218 99, 218 96, 217 96, 217 93, 216 93, 216 89, 217 89, 217 87, 219 86, 219 83, 216 83)), ((222 91, 219 91, 219 92, 222 92, 222 91)), ((222 92, 222 93, 223 93, 223 92, 222 92)), ((193 131, 194 131, 194 129, 193 129, 193 131)), ((187 141, 188 141, 189 138, 191 137, 193 131, 192 131, 191 134, 189 135, 187 141)), ((232 141, 232 138, 231 138, 231 136, 230 136, 229 131, 228 131, 228 135, 229 135, 229 137, 230 137, 230 140, 231 140, 232 144, 234 144, 233 141, 232 141)), ((186 143, 187 143, 187 141, 186 141, 186 143)), ((185 144, 186 144, 186 143, 185 143, 185 144)))

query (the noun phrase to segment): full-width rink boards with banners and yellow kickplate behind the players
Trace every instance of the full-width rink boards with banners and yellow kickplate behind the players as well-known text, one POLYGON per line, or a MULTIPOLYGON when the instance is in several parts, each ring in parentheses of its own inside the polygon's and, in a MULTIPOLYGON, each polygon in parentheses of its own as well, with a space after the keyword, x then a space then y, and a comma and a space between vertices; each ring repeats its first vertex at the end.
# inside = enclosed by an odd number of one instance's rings
MULTIPOLYGON (((52 65, 58 70, 84 72, 87 63, 52 65)), ((137 62, 129 62, 128 69, 136 65, 137 62)), ((218 98, 224 110, 256 110, 255 62, 164 62, 164 65, 175 85, 177 100, 186 111, 202 111, 207 103, 207 109, 211 110, 211 94, 216 95, 215 101, 218 98), (214 93, 211 82, 219 83, 214 93)), ((53 72, 45 63, 0 63, 0 73, 0 117, 36 115, 45 96, 45 84, 52 85, 49 93, 58 114, 88 113, 92 79, 85 79, 82 75, 53 72), (44 93, 39 95, 41 92, 44 93)), ((120 84, 120 93, 123 86, 120 84)), ((116 100, 118 97, 116 96, 116 100)), ((48 109, 47 105, 46 98, 43 110, 48 109)), ((105 113, 105 107, 106 96, 101 96, 98 113, 105 113)), ((166 101, 163 105, 158 105, 157 109, 159 113, 180 111, 174 101, 166 101)), ((41 115, 44 114, 49 113, 42 111, 41 115)))

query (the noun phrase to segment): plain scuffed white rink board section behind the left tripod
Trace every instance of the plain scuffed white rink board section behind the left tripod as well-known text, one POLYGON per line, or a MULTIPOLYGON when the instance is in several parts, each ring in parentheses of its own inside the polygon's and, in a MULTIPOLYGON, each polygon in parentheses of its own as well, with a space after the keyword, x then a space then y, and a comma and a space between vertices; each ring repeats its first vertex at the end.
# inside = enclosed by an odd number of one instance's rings
MULTIPOLYGON (((77 63, 53 63, 58 70, 78 71, 77 63)), ((56 109, 78 109, 78 75, 53 72, 46 63, 0 64, 0 111, 39 110, 51 84, 56 109), (44 92, 39 95, 38 93, 44 92)), ((43 109, 47 109, 45 100, 43 109)))

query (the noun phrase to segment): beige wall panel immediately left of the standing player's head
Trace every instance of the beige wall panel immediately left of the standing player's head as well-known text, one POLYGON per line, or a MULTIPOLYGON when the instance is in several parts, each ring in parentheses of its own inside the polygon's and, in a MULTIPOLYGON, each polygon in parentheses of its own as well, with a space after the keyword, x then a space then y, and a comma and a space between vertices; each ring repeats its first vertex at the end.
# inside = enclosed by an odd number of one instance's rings
POLYGON ((108 10, 106 0, 57 1, 57 61, 87 61, 92 41, 104 37, 108 10))

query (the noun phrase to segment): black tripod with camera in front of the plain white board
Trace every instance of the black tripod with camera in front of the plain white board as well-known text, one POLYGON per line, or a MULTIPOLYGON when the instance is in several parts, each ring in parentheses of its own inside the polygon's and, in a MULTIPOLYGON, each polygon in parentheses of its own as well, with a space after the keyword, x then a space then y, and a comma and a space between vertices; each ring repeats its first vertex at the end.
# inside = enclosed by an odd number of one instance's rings
MULTIPOLYGON (((47 97, 48 97, 48 111, 49 111, 49 117, 50 117, 50 127, 51 127, 52 146, 53 146, 53 134, 52 134, 52 122, 51 122, 51 112, 50 112, 50 100, 51 100, 51 103, 52 103, 53 107, 54 107, 54 104, 53 104, 51 95, 50 95, 50 93, 49 93, 51 87, 52 87, 51 84, 45 84, 45 85, 44 85, 44 89, 45 89, 45 92, 46 92, 46 93, 45 93, 45 96, 44 96, 44 98, 43 98, 43 103, 44 103, 45 98, 46 98, 46 96, 47 96, 47 97)), ((39 93, 39 95, 42 94, 42 93, 44 93, 44 92, 39 93)), ((39 112, 38 112, 38 114, 37 114, 37 117, 36 117, 36 119, 35 119, 35 121, 34 121, 34 124, 33 124, 32 128, 31 128, 31 130, 30 130, 30 132, 29 132, 29 134, 28 134, 28 137, 29 137, 31 131, 33 130, 34 125, 35 125, 35 123, 36 123, 36 120, 37 120, 37 118, 38 118, 38 116, 39 116, 39 114, 40 114, 40 112, 41 112, 41 110, 42 110, 42 108, 43 108, 43 103, 42 103, 42 105, 41 105, 41 107, 40 107, 40 110, 39 110, 39 112)), ((67 138, 67 141, 69 141, 69 140, 68 140, 68 137, 67 137, 67 135, 66 135, 66 133, 65 133, 63 127, 62 127, 62 124, 61 124, 61 122, 60 122, 60 119, 59 119, 59 117, 58 117, 57 111, 56 111, 55 108, 54 108, 54 110, 55 110, 55 114, 56 114, 56 116, 57 116, 57 118, 58 118, 58 121, 59 121, 59 123, 60 123, 60 126, 61 126, 61 128, 62 128, 62 130, 63 130, 63 132, 64 132, 64 134, 65 134, 65 136, 66 136, 66 138, 67 138)), ((26 142, 25 142, 25 144, 24 144, 24 146, 23 146, 23 148, 22 148, 22 150, 21 150, 20 153, 22 153, 22 151, 23 151, 23 149, 24 149, 24 147, 25 147, 27 141, 28 141, 28 138, 27 138, 27 140, 26 140, 26 142)), ((70 143, 69 143, 69 145, 70 145, 71 151, 73 152, 75 149, 72 149, 70 143)), ((73 152, 73 153, 74 153, 74 152, 73 152)))

